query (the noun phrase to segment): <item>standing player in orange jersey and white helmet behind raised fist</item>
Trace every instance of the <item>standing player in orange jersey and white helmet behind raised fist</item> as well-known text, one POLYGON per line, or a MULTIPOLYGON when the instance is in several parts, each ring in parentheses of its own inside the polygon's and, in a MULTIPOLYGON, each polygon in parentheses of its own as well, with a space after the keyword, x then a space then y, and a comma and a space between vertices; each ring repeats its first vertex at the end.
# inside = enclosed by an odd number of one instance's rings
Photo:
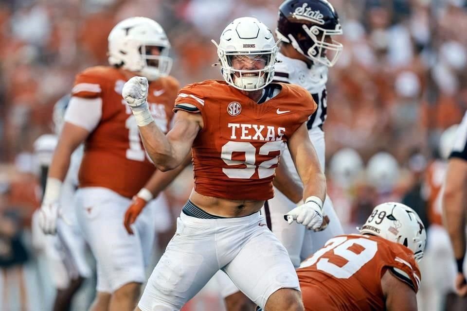
POLYGON ((177 80, 168 75, 172 63, 169 48, 157 22, 145 17, 127 18, 108 36, 111 66, 82 71, 72 88, 38 222, 45 233, 55 232, 56 219, 61 215, 58 198, 70 156, 84 142, 75 206, 79 227, 97 264, 93 311, 132 310, 145 280, 154 240, 155 208, 163 208, 165 203, 160 197, 151 200, 157 192, 153 181, 161 172, 155 173, 144 151, 135 117, 122 100, 121 91, 131 77, 146 77, 150 81, 150 115, 155 126, 166 133, 179 90, 177 80), (124 215, 130 220, 134 210, 149 201, 142 212, 144 217, 131 226, 125 221, 125 228, 124 215))

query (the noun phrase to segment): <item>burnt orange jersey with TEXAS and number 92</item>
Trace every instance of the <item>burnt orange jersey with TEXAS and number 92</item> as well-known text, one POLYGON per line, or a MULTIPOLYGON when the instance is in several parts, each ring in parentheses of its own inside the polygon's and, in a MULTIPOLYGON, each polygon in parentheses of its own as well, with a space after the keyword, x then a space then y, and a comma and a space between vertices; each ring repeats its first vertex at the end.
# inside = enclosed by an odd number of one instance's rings
POLYGON ((204 123, 193 143, 198 193, 232 200, 273 197, 279 155, 316 104, 303 87, 290 84, 269 84, 265 96, 270 99, 258 104, 217 80, 180 90, 174 110, 200 112, 204 123))

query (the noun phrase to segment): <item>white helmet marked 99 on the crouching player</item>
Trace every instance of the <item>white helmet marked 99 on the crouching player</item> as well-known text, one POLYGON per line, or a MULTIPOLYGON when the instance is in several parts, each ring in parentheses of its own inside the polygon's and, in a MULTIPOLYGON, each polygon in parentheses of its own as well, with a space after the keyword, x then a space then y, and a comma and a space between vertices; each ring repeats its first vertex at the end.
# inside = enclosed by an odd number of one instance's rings
POLYGON ((417 261, 423 258, 427 243, 425 225, 418 214, 404 204, 388 202, 378 205, 359 230, 361 234, 377 235, 407 246, 417 261))

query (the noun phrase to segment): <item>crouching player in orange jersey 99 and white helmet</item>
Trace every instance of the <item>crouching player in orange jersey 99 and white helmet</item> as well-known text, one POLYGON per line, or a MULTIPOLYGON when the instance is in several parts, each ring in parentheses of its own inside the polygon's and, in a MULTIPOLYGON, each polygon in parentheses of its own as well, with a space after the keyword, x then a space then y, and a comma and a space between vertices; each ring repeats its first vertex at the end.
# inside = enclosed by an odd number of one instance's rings
POLYGON ((426 232, 400 203, 373 209, 360 234, 337 236, 297 270, 306 311, 416 311, 426 232))

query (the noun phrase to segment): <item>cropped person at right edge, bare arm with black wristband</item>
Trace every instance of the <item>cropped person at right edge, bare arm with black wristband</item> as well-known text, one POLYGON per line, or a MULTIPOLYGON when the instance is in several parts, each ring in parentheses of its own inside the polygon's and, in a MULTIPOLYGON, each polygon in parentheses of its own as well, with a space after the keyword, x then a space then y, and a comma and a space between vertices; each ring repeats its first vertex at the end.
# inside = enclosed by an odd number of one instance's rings
POLYGON ((466 256, 466 201, 467 201, 467 112, 457 129, 449 155, 444 182, 443 216, 457 263, 455 289, 459 296, 467 296, 464 271, 466 256))

